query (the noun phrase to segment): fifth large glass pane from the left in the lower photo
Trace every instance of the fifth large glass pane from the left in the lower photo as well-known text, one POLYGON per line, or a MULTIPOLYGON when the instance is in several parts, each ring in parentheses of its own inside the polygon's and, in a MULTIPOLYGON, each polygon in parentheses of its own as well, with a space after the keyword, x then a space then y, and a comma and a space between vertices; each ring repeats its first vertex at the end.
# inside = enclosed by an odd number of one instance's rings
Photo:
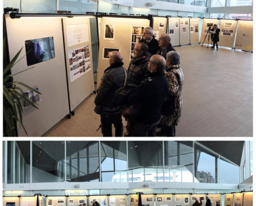
POLYGON ((162 174, 162 160, 161 141, 129 141, 129 182, 157 181, 162 174))

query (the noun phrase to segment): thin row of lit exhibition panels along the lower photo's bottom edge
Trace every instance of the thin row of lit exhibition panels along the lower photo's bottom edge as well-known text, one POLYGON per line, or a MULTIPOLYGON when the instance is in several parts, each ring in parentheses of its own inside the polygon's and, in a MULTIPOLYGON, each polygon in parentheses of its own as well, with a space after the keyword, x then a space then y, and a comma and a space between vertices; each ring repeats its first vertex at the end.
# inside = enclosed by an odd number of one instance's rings
POLYGON ((92 206, 97 201, 100 206, 188 206, 196 200, 206 203, 206 196, 212 206, 252 206, 253 193, 233 194, 130 194, 98 196, 40 196, 3 197, 4 206, 92 206), (222 197, 224 202, 222 202, 222 197), (37 204, 38 202, 38 204, 37 204))

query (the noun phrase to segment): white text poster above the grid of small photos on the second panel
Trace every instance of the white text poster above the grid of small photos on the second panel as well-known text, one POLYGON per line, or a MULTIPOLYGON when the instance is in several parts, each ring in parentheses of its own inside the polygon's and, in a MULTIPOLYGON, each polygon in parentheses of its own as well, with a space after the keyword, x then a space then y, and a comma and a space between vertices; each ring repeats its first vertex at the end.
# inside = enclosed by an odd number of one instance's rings
POLYGON ((68 46, 89 41, 88 24, 67 25, 68 46))

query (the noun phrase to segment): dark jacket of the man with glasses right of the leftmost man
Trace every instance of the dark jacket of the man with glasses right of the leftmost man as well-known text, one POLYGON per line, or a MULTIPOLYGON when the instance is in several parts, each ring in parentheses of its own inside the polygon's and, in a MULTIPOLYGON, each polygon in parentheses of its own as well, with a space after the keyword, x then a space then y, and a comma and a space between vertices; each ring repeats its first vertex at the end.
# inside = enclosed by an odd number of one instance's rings
POLYGON ((147 70, 147 62, 152 55, 148 52, 146 56, 135 58, 133 57, 128 67, 129 83, 140 84, 142 80, 149 75, 147 70))

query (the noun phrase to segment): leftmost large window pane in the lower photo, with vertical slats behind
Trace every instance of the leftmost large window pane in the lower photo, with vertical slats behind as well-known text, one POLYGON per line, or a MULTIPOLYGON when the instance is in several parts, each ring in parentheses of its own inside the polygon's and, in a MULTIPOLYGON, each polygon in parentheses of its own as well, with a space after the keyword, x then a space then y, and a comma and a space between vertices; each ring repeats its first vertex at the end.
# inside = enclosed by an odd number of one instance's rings
POLYGON ((8 141, 6 155, 7 184, 30 182, 30 142, 8 141))

